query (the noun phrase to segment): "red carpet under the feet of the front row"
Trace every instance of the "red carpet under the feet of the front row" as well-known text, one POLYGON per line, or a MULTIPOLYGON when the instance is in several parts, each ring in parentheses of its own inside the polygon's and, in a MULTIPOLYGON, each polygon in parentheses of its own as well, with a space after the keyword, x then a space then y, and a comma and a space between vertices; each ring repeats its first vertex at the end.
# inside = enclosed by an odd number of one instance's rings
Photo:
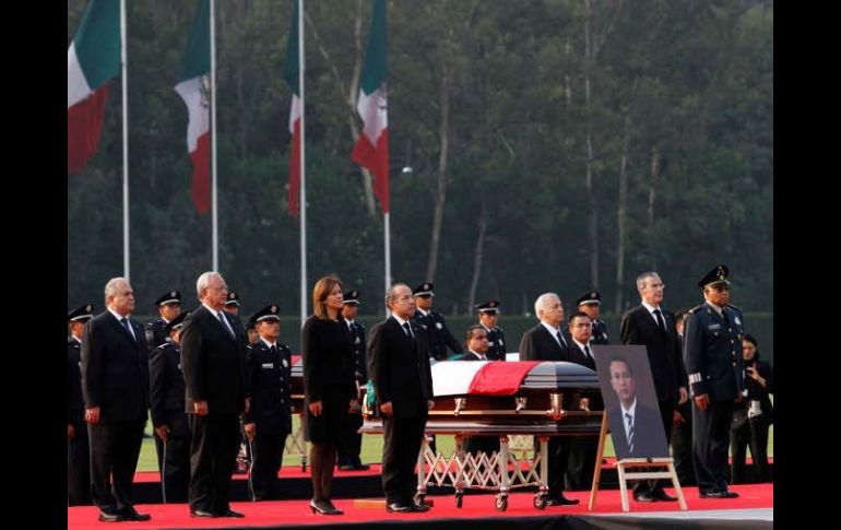
MULTIPOLYGON (((736 485, 731 490, 738 492, 739 498, 735 499, 709 499, 699 498, 698 488, 684 488, 686 503, 689 510, 720 510, 744 508, 771 508, 773 507, 773 484, 746 484, 736 485)), ((674 491, 666 488, 667 493, 674 491)), ((306 500, 264 502, 264 503, 233 503, 232 508, 246 515, 245 519, 196 519, 190 518, 187 505, 138 505, 143 514, 151 514, 152 520, 147 522, 99 522, 98 510, 93 506, 68 508, 68 530, 86 530, 91 528, 130 528, 130 529, 161 529, 161 528, 226 528, 226 527, 260 527, 282 525, 321 525, 332 522, 374 522, 374 521, 415 521, 433 519, 477 519, 499 517, 545 517, 552 515, 595 515, 619 514, 621 502, 617 490, 599 492, 594 511, 588 511, 587 503, 589 492, 567 493, 569 498, 578 498, 578 506, 549 507, 541 511, 532 506, 533 494, 514 493, 508 498, 508 510, 497 511, 494 508, 493 495, 465 495, 463 507, 455 507, 452 496, 429 497, 435 500, 435 507, 426 514, 386 514, 384 508, 356 508, 353 499, 336 499, 334 504, 345 511, 344 516, 323 517, 312 515, 306 500)), ((674 509, 679 511, 677 502, 640 504, 630 502, 630 513, 665 511, 674 509)))

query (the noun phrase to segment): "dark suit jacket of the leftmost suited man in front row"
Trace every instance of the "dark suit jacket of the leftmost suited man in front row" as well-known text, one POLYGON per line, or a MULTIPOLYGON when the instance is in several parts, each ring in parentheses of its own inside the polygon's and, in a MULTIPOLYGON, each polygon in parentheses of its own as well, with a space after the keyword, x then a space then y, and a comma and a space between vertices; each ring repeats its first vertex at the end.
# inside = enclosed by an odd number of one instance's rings
POLYGON ((82 394, 99 407, 103 420, 145 420, 149 409, 149 350, 143 327, 129 318, 137 341, 105 310, 85 325, 82 394))

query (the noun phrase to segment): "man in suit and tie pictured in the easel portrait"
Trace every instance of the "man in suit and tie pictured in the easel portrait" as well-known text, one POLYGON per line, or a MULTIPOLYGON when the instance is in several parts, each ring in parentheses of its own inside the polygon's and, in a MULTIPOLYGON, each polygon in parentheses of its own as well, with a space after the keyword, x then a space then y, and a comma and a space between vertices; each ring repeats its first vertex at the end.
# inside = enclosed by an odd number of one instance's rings
POLYGON ((607 411, 611 437, 618 458, 668 457, 661 436, 660 412, 637 399, 633 368, 625 357, 611 360, 611 386, 619 404, 607 411))

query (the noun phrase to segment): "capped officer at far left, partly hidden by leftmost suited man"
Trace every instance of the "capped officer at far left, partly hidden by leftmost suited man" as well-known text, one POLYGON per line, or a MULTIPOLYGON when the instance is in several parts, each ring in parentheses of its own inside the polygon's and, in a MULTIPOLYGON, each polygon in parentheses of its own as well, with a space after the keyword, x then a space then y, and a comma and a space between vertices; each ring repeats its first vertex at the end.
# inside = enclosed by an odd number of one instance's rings
POLYGON ((85 304, 68 313, 70 335, 67 338, 67 493, 68 506, 91 504, 91 460, 85 423, 85 405, 82 400, 82 333, 91 320, 94 306, 85 304))

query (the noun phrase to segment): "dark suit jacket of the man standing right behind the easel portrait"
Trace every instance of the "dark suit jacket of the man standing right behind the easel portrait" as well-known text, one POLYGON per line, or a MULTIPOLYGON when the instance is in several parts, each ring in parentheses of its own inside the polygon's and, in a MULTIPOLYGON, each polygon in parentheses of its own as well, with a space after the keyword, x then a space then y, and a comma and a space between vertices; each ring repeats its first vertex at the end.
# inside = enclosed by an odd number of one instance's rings
POLYGON ((676 399, 678 387, 686 385, 686 367, 675 328, 675 316, 662 306, 660 310, 666 325, 665 339, 654 317, 640 305, 623 317, 621 343, 645 346, 658 399, 670 401, 676 399))

